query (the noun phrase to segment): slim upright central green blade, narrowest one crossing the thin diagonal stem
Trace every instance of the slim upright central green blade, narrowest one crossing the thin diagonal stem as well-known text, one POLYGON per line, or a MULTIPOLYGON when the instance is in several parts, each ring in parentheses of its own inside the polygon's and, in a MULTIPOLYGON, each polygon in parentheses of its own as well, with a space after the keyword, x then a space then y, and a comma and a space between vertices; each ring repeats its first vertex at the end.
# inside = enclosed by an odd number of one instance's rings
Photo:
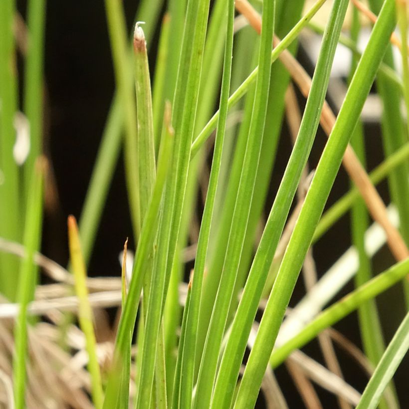
MULTIPOLYGON (((195 261, 195 275, 193 278, 193 289, 189 306, 189 315, 187 321, 187 333, 183 349, 184 374, 180 405, 183 408, 192 406, 192 392, 194 382, 194 367, 196 355, 196 341, 199 325, 199 310, 202 296, 203 277, 205 273, 205 260, 210 235, 211 218, 214 209, 214 199, 217 190, 217 181, 220 172, 221 155, 223 152, 223 141, 227 121, 227 100, 230 90, 231 78, 231 58, 233 51, 233 24, 234 24, 234 1, 227 3, 227 25, 226 40, 224 50, 223 77, 221 83, 219 119, 217 124, 216 139, 214 144, 213 159, 211 164, 209 185, 203 212, 201 229, 199 233, 198 249, 195 261)), ((182 350, 179 351, 182 353, 182 350)))

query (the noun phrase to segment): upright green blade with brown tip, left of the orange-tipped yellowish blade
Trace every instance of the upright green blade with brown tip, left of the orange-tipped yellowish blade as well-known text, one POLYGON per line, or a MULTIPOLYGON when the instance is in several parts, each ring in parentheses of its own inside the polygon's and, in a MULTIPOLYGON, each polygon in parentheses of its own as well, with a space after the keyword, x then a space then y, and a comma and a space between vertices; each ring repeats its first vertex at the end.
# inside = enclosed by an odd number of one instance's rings
POLYGON ((15 408, 25 407, 26 391, 26 362, 27 355, 27 307, 34 299, 35 285, 37 283, 36 271, 33 258, 34 253, 41 243, 41 220, 42 220, 42 194, 44 179, 44 162, 38 161, 31 175, 30 192, 28 200, 30 205, 26 209, 23 244, 25 257, 21 261, 18 280, 19 313, 14 330, 15 357, 14 370, 14 401, 15 408))

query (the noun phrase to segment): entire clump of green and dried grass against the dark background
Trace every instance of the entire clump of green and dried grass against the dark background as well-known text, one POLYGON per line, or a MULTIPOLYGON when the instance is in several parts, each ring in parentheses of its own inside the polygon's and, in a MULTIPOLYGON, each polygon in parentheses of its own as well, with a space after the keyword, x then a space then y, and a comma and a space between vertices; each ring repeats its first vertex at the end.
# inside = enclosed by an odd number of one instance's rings
POLYGON ((308 408, 321 407, 311 381, 342 408, 398 408, 406 391, 396 391, 393 377, 409 348, 409 315, 387 345, 374 299, 402 282, 409 307, 408 44, 406 35, 391 38, 397 24, 407 32, 406 1, 369 0, 373 14, 353 1, 345 24, 349 0, 141 0, 135 21, 145 25, 136 23, 129 40, 121 2, 105 0, 116 92, 79 225, 68 219, 67 269, 40 254, 46 4, 27 3, 18 74, 15 2, 0 1, 0 405, 252 408, 262 395, 268 408, 285 408, 274 377, 285 363, 308 408), (310 20, 324 3, 331 10, 320 27, 310 20), (372 32, 360 51, 368 16, 372 32), (305 30, 322 33, 312 79, 294 57, 305 30), (352 63, 334 115, 325 96, 340 42, 352 63), (399 73, 392 47, 401 52, 399 73), (374 81, 385 159, 368 175, 360 116, 374 81), (295 88, 306 97, 302 113, 295 88), (284 118, 293 149, 265 218, 284 118), (329 139, 309 174, 320 123, 329 139), (137 243, 132 271, 125 244, 121 276, 87 278, 122 144, 137 243), (351 191, 323 214, 342 164, 351 191), (375 188, 385 178, 388 208, 375 188), (192 222, 199 191, 204 208, 192 222), (311 246, 347 211, 352 248, 318 279, 311 246), (371 257, 384 242, 396 264, 374 274, 371 257), (305 296, 288 309, 301 270, 305 296), (55 284, 41 285, 39 272, 55 284), (353 276, 355 289, 336 298, 353 276), (96 317, 112 306, 114 328, 99 328, 96 317), (363 351, 331 329, 353 311, 363 351), (300 351, 315 338, 325 366, 300 351), (343 379, 339 344, 368 375, 365 391, 343 379))

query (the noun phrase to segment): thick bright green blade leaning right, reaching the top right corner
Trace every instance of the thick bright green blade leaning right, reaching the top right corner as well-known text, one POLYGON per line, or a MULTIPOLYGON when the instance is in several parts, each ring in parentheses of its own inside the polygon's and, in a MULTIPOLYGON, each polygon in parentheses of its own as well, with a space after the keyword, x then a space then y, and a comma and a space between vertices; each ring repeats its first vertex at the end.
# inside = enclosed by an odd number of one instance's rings
POLYGON ((291 297, 314 229, 321 216, 344 151, 361 113, 389 37, 394 29, 395 2, 386 0, 315 172, 275 279, 238 392, 236 407, 249 407, 257 398, 271 350, 291 297))

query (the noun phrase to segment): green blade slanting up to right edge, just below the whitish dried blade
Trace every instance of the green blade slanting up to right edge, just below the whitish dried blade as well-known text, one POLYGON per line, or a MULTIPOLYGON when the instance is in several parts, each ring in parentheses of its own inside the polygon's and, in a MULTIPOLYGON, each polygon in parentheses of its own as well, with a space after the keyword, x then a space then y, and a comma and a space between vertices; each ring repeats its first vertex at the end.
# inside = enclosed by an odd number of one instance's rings
POLYGON ((372 278, 340 301, 325 309, 313 321, 306 325, 295 337, 273 351, 270 365, 276 368, 288 355, 301 348, 325 328, 330 327, 349 313, 356 310, 363 302, 376 297, 402 280, 409 272, 409 260, 395 264, 388 270, 372 278))

